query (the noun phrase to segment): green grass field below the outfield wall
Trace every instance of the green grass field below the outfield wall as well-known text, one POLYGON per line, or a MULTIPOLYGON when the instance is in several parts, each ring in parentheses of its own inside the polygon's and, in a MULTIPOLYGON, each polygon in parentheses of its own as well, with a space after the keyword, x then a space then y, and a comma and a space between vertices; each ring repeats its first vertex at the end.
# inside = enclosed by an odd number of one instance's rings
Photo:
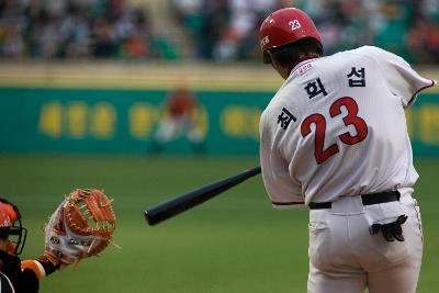
MULTIPOLYGON (((149 227, 143 211, 257 166, 257 158, 0 156, 0 194, 19 205, 30 229, 23 258, 43 252, 48 215, 76 188, 115 199, 114 241, 42 281, 41 292, 306 292, 307 211, 275 211, 260 177, 184 214, 149 227)), ((418 291, 439 291, 438 159, 417 159, 425 236, 418 291)))

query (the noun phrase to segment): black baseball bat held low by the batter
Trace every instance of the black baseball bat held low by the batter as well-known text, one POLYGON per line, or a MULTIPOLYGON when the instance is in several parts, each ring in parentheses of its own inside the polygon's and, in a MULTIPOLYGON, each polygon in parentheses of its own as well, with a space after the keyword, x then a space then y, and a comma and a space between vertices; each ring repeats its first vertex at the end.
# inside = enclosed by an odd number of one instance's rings
POLYGON ((212 198, 215 198, 219 193, 239 184, 240 182, 260 172, 261 168, 260 166, 258 166, 252 169, 245 170, 238 174, 227 177, 217 182, 192 190, 145 211, 145 218, 150 226, 154 226, 205 201, 209 201, 212 198))

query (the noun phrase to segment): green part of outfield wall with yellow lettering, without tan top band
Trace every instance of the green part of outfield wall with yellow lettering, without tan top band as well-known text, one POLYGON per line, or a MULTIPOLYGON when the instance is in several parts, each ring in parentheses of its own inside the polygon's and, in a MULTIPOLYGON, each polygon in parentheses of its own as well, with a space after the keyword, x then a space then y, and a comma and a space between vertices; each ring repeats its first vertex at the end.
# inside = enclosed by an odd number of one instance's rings
MULTIPOLYGON (((147 154, 168 90, 0 88, 2 153, 147 154)), ((195 90, 206 151, 257 155, 259 116, 273 91, 195 90)), ((439 156, 439 94, 407 112, 415 155, 439 156)), ((165 151, 189 154, 183 136, 165 151)))

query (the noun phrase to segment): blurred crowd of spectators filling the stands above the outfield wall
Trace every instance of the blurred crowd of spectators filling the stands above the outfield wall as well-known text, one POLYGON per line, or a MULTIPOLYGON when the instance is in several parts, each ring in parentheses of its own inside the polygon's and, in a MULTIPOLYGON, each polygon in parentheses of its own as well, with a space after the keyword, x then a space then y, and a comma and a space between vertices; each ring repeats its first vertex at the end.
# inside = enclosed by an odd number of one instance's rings
POLYGON ((259 61, 259 25, 282 7, 309 13, 327 54, 439 63, 439 0, 0 0, 0 56, 259 61))

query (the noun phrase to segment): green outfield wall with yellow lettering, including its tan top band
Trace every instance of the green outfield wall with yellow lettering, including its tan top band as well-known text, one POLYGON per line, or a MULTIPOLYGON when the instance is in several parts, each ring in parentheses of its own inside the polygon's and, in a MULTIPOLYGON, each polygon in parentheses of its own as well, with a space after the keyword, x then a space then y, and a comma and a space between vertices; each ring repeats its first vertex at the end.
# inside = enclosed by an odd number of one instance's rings
MULTIPOLYGON (((417 68, 439 80, 435 67, 417 68)), ((205 149, 257 155, 262 110, 283 80, 260 64, 0 63, 0 151, 148 154, 169 92, 199 99, 205 149)), ((414 151, 439 156, 439 87, 406 111, 414 151)), ((178 136, 166 153, 190 154, 178 136)))

